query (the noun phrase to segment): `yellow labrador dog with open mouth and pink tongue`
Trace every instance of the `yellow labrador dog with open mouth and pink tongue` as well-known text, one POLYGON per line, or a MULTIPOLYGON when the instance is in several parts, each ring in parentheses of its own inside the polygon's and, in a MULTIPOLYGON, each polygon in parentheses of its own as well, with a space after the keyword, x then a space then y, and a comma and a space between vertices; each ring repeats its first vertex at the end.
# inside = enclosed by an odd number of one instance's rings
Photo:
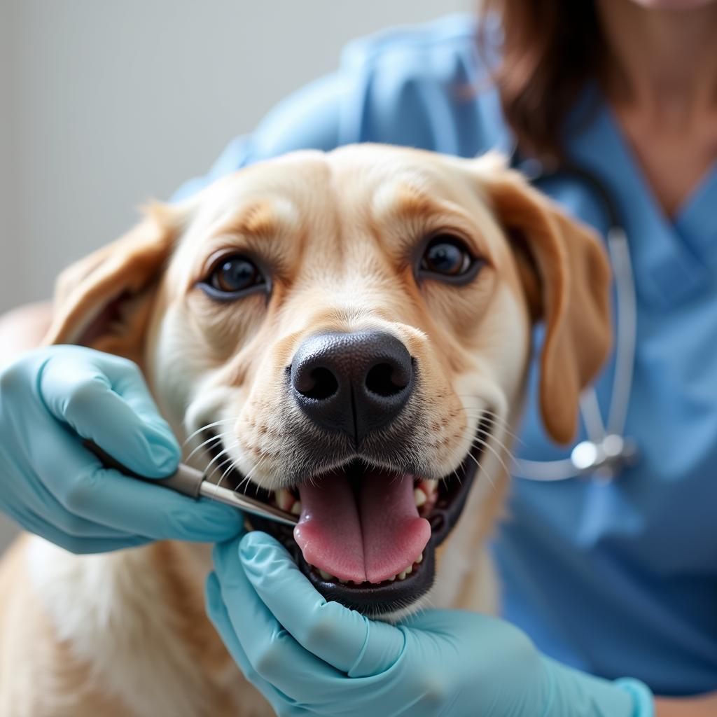
MULTIPOLYGON (((609 349, 608 284, 592 233, 497 156, 348 146, 151 206, 62 275, 48 341, 136 361, 176 435, 205 442, 199 467, 300 516, 250 522, 326 598, 492 611, 531 328, 566 442, 609 349)), ((2 717, 270 714, 204 617, 209 568, 209 546, 23 538, 0 572, 2 717)))

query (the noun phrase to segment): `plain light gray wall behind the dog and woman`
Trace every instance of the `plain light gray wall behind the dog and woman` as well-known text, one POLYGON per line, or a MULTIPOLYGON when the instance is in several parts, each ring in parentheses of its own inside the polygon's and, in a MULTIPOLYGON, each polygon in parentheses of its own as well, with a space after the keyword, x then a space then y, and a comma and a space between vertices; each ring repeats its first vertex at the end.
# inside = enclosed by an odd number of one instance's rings
MULTIPOLYGON (((475 0, 0 0, 0 312, 203 174, 348 39, 475 0)), ((0 550, 12 529, 0 516, 0 550)))

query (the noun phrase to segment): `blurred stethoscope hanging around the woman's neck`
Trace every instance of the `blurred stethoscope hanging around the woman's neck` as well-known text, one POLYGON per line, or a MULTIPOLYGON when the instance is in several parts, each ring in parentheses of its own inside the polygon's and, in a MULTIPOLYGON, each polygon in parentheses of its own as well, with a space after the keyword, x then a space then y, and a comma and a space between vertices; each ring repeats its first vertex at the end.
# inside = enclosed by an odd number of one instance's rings
POLYGON ((619 475, 623 468, 634 465, 638 458, 635 441, 625 436, 637 338, 635 280, 632 277, 630 247, 627 244, 625 227, 620 222, 614 196, 592 172, 569 163, 548 168, 540 161, 521 157, 517 149, 511 153, 511 166, 520 170, 533 186, 539 187, 541 182, 547 179, 561 177, 579 181, 599 198, 608 220, 607 249, 615 279, 617 314, 615 371, 607 422, 600 411, 597 392, 593 386, 589 386, 580 397, 580 413, 587 440, 576 444, 569 458, 546 461, 516 458, 512 473, 518 478, 541 481, 584 476, 611 480, 619 475))

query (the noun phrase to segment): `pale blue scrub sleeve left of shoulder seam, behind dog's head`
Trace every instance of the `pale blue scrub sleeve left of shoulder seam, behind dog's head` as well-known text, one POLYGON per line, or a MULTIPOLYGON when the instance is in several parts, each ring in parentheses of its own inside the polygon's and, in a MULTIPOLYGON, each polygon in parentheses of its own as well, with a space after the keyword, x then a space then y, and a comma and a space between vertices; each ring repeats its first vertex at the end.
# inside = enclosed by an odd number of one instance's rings
POLYGON ((346 72, 315 80, 282 100, 250 134, 235 137, 209 172, 182 184, 171 196, 181 201, 225 174, 298 149, 338 146, 339 120, 349 78, 346 72))

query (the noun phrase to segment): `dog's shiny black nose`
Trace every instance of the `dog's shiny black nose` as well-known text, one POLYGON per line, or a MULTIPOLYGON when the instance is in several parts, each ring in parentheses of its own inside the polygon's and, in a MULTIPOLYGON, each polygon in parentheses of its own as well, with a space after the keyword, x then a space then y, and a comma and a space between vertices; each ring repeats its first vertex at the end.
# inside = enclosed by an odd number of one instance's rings
POLYGON ((322 333, 299 346, 291 384, 315 424, 343 431, 358 445, 406 404, 413 361, 403 343, 384 331, 322 333))

